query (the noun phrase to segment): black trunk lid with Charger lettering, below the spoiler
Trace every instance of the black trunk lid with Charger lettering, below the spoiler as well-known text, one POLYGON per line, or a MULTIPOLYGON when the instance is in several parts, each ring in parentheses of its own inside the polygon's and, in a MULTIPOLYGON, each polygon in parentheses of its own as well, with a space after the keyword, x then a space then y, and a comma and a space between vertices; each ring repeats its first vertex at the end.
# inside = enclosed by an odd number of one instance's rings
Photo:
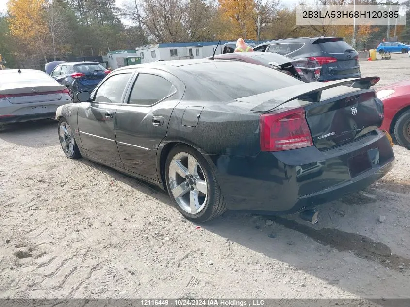
POLYGON ((324 91, 320 102, 304 107, 313 144, 319 150, 355 141, 375 131, 383 121, 383 103, 373 90, 343 90, 346 93, 336 97, 326 97, 324 91))

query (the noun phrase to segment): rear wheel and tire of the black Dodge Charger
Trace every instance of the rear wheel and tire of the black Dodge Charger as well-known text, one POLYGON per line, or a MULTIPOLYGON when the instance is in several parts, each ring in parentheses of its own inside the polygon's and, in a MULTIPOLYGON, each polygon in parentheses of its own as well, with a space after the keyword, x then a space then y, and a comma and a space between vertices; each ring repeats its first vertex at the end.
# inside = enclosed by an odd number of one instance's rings
POLYGON ((192 147, 177 145, 171 149, 165 180, 177 209, 191 221, 206 222, 227 210, 213 169, 192 147))

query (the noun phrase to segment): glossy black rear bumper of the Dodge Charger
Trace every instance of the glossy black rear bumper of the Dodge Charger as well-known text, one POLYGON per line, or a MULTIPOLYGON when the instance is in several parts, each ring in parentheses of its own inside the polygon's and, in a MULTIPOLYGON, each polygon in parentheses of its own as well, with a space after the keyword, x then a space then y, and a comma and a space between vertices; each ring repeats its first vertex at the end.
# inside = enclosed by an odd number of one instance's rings
POLYGON ((228 208, 271 214, 296 213, 360 191, 394 165, 392 147, 380 131, 324 152, 311 146, 252 158, 210 158, 228 208), (351 159, 360 154, 368 155, 371 166, 355 175, 351 159))

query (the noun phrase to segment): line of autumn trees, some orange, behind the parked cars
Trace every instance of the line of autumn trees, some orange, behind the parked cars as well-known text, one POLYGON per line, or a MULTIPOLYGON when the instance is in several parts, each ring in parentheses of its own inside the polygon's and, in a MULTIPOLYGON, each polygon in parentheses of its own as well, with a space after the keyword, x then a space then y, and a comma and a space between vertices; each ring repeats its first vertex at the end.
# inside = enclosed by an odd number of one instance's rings
MULTIPOLYGON (((410 8, 410 1, 404 4, 410 8)), ((297 26, 295 7, 280 0, 128 0, 121 7, 115 0, 9 0, 7 12, 0 15, 0 53, 13 68, 27 61, 102 56, 151 43, 257 39, 258 25, 261 40, 326 35, 350 42, 353 36, 352 26, 297 26)), ((390 30, 389 36, 396 33, 410 41, 410 18, 406 26, 390 30)), ((358 46, 381 41, 386 31, 386 26, 357 27, 358 46)))

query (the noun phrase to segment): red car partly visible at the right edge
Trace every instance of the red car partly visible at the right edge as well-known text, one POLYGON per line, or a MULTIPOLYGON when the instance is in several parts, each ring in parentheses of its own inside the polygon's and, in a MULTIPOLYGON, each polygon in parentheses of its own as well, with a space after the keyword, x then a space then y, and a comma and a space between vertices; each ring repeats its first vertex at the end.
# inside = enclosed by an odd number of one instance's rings
POLYGON ((410 149, 410 80, 382 87, 377 97, 384 104, 380 129, 390 132, 400 145, 410 149))

